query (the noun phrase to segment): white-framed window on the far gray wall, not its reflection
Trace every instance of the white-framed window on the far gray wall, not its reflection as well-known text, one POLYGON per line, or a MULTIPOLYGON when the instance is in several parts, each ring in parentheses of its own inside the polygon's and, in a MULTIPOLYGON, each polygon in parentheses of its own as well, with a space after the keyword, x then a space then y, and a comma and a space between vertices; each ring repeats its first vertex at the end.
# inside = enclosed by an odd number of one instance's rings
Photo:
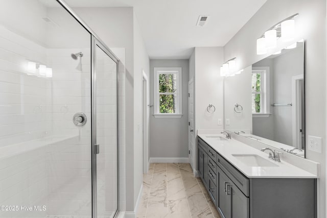
POLYGON ((182 68, 154 67, 154 116, 181 117, 182 68))

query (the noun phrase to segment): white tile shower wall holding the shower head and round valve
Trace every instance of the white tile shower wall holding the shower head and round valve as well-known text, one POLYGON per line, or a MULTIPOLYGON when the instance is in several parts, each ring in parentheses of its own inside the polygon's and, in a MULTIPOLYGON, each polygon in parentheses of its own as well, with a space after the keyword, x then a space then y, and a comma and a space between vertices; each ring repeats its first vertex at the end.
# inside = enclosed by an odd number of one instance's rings
POLYGON ((53 134, 72 136, 46 150, 48 215, 91 215, 91 70, 90 49, 48 49, 53 68, 53 134), (72 53, 82 52, 74 60, 72 53), (83 127, 73 123, 85 113, 83 127))

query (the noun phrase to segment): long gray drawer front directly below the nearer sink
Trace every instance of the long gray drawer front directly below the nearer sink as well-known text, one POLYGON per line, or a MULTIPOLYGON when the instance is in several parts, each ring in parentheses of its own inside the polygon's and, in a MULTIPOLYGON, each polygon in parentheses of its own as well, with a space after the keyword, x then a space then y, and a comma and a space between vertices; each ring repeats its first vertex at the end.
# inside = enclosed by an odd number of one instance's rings
POLYGON ((232 180, 232 182, 244 193, 246 197, 249 197, 249 179, 240 173, 219 154, 217 154, 216 161, 217 165, 232 180))

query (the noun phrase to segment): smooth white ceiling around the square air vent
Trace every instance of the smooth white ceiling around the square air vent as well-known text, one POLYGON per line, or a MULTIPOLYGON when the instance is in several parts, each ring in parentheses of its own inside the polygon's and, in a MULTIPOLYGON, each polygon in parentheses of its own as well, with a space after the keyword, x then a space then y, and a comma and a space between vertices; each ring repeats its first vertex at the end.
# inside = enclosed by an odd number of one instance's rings
POLYGON ((193 47, 224 46, 266 1, 66 0, 71 7, 134 7, 151 59, 189 59, 193 47), (204 27, 196 27, 199 15, 210 16, 204 27))

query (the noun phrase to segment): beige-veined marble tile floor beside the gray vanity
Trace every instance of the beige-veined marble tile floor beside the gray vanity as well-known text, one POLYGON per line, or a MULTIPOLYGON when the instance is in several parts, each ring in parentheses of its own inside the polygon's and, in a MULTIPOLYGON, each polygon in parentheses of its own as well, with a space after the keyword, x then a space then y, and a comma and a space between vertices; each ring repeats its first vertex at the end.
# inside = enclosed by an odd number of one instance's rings
POLYGON ((137 218, 221 218, 189 163, 151 163, 137 218))

